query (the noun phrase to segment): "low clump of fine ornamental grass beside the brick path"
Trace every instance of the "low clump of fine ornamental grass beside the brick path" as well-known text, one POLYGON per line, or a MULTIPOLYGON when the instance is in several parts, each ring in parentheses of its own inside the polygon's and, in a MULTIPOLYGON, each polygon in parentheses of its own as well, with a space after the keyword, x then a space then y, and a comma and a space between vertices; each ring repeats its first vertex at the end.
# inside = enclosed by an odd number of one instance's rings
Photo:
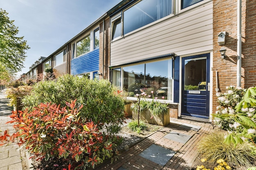
POLYGON ((215 162, 218 159, 224 159, 228 163, 236 165, 250 166, 255 162, 256 149, 248 142, 233 144, 224 142, 226 133, 216 131, 206 137, 203 137, 198 144, 198 152, 202 153, 202 157, 215 162))

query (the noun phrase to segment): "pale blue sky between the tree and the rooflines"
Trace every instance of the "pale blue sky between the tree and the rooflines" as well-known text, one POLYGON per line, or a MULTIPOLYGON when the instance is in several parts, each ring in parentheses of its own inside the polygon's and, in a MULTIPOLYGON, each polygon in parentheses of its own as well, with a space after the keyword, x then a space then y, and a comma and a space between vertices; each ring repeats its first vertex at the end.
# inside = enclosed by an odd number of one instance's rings
POLYGON ((121 0, 0 0, 0 8, 18 26, 30 49, 26 51, 25 68, 40 56, 48 57, 121 0))

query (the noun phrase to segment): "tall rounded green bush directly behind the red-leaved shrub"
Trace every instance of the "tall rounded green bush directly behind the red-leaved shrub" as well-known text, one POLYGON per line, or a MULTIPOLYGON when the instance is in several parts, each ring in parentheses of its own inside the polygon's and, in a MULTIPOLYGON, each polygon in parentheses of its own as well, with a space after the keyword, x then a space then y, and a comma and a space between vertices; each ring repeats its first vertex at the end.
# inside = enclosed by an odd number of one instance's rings
POLYGON ((38 82, 31 95, 22 102, 29 110, 40 103, 52 102, 65 106, 65 101, 77 99, 83 105, 80 117, 94 121, 99 128, 106 126, 107 131, 115 133, 123 121, 124 99, 115 93, 108 80, 90 80, 85 77, 63 75, 56 81, 38 82))

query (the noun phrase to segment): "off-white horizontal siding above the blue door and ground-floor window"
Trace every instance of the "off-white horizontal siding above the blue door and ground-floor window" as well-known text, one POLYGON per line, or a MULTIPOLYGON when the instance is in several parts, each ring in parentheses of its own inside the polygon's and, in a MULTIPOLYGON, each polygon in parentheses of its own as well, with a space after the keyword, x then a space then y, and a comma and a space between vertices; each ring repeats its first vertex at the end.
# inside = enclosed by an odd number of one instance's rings
POLYGON ((111 65, 213 49, 212 2, 111 43, 111 65))

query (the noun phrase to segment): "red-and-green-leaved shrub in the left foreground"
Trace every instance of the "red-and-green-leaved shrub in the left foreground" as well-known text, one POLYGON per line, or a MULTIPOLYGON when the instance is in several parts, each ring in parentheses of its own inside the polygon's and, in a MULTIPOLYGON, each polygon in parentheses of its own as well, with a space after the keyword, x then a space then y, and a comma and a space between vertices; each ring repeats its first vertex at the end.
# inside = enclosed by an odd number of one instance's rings
POLYGON ((13 127, 19 130, 13 135, 4 132, 0 142, 18 139, 37 159, 63 158, 81 169, 94 168, 105 159, 114 161, 119 139, 100 132, 92 121, 83 122, 79 118, 81 108, 72 101, 63 108, 47 103, 32 112, 13 112, 9 123, 15 123, 13 127))

